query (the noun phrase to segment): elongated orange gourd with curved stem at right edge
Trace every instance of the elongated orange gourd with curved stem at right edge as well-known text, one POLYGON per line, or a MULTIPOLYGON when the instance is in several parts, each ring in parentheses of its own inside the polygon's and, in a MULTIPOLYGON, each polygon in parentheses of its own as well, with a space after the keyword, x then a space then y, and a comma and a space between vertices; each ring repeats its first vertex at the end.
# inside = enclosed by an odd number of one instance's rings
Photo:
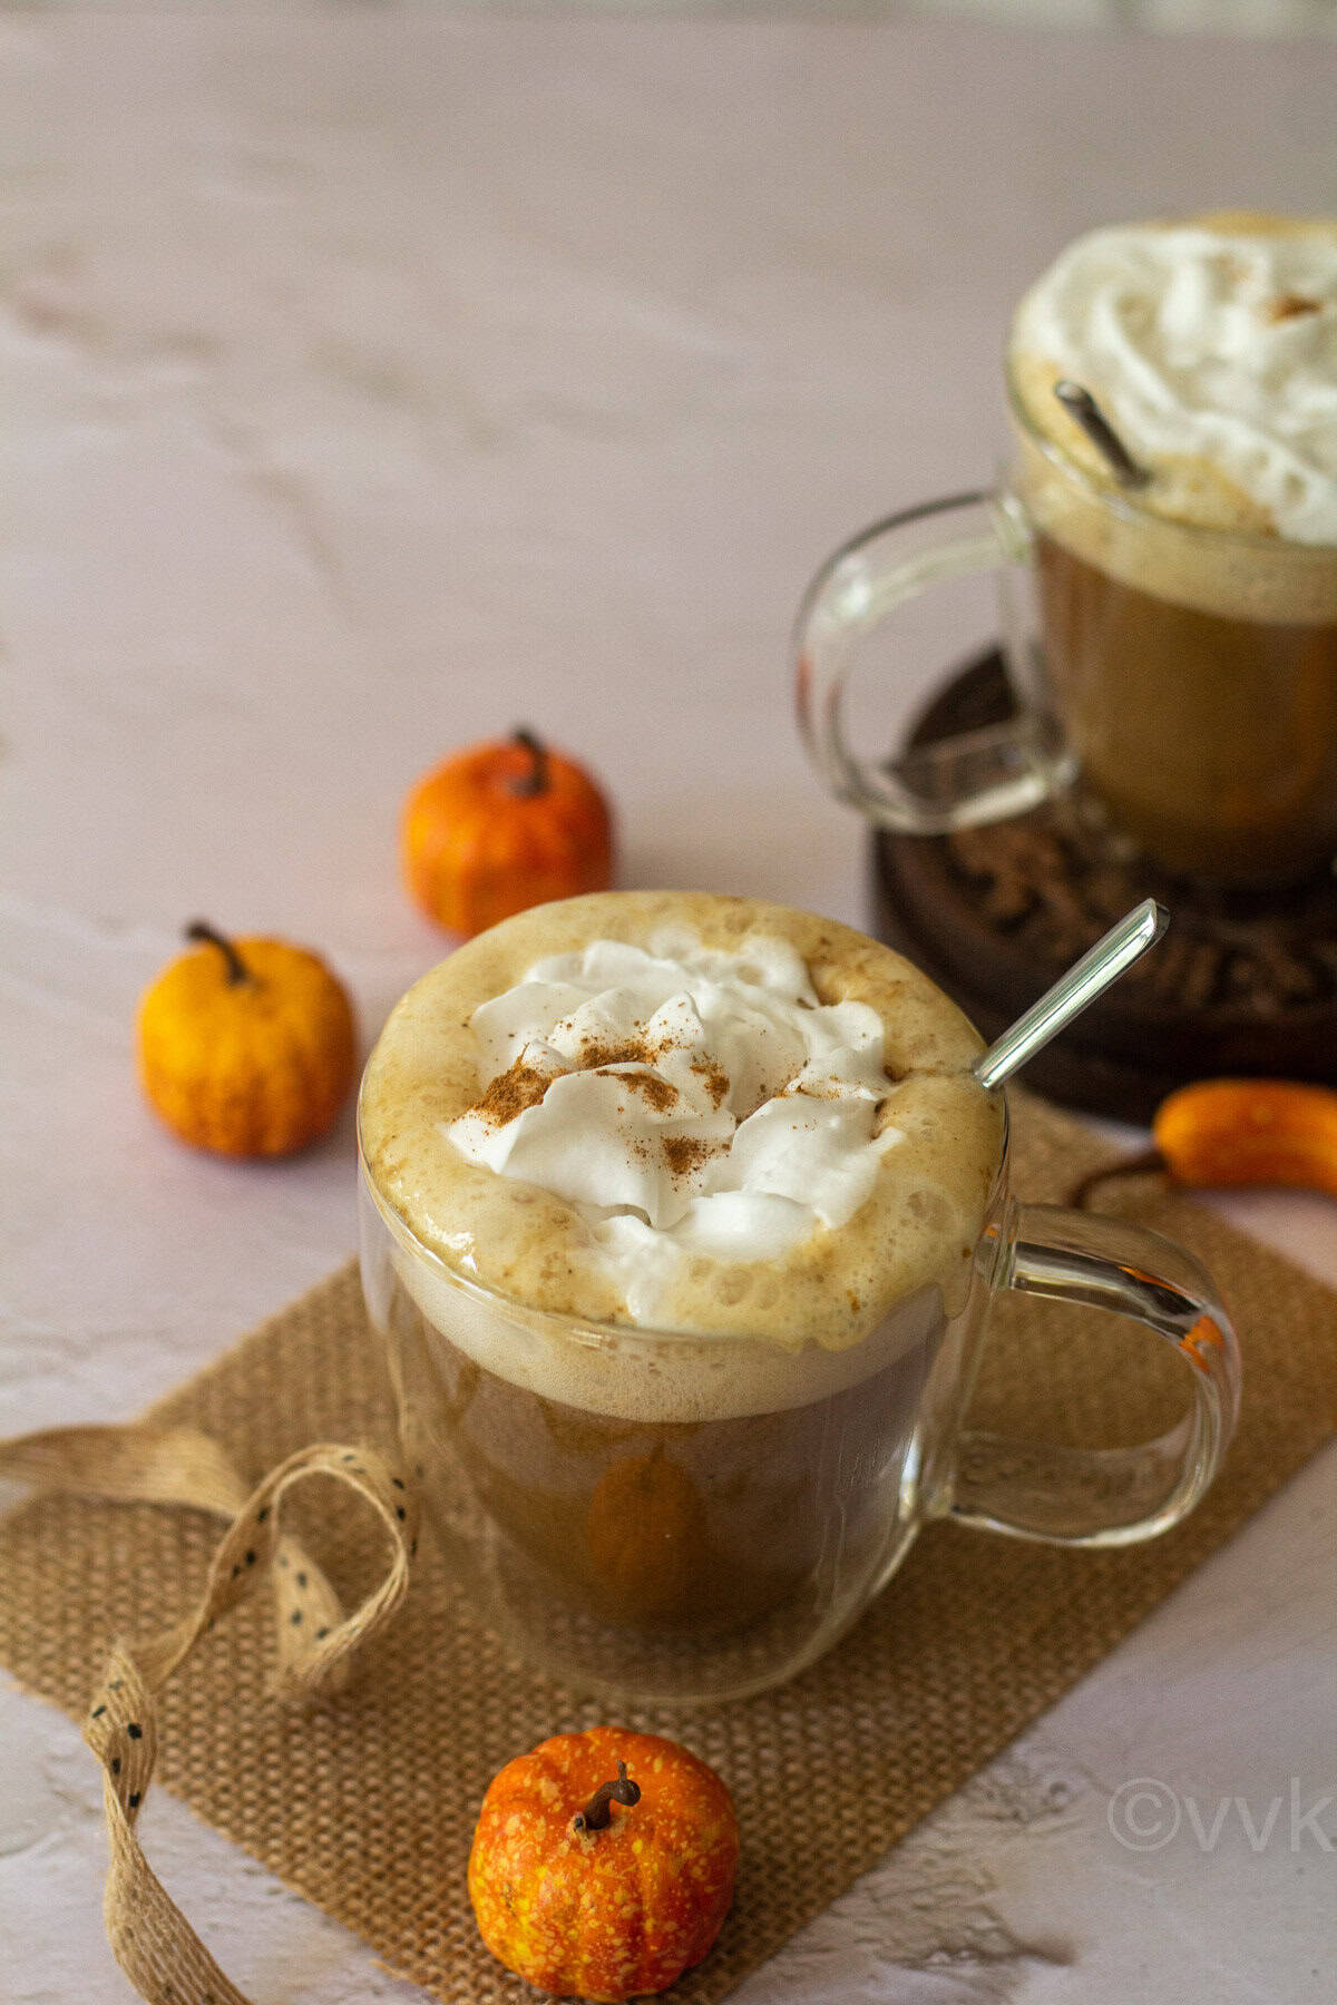
POLYGON ((1293 1185, 1337 1197, 1337 1093, 1289 1079, 1203 1079, 1157 1109, 1155 1147, 1092 1171, 1074 1203, 1106 1177, 1159 1169, 1175 1183, 1293 1185))

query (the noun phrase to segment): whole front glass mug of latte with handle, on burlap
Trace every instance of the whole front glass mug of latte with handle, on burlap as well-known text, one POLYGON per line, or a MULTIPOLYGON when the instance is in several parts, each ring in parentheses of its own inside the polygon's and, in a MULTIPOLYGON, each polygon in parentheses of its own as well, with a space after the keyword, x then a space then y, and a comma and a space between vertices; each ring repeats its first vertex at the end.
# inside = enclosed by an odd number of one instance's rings
POLYGON ((1026 1219, 980 1049, 876 940, 692 892, 523 912, 393 1011, 363 1285, 451 1578, 531 1664, 742 1696, 828 1650, 932 1516, 1100 1544, 1201 1494, 1235 1397, 1211 1285, 1123 1221, 1026 1219), (1034 1444, 962 1436, 1006 1287, 1185 1357, 1197 1331, 1195 1426, 1052 1482, 1034 1444))

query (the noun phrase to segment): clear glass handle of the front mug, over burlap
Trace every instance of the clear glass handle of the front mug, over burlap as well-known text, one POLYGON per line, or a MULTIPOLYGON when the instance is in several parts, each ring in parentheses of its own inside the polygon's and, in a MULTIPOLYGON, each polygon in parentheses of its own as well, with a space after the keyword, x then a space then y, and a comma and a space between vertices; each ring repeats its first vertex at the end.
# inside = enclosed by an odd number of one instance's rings
POLYGON ((962 1434, 944 1510, 1052 1546, 1133 1546, 1193 1510, 1239 1412, 1239 1345, 1203 1267, 1173 1239, 1060 1205, 1014 1205, 994 1289, 1080 1301, 1165 1337, 1189 1367, 1185 1418, 1139 1448, 962 1434))

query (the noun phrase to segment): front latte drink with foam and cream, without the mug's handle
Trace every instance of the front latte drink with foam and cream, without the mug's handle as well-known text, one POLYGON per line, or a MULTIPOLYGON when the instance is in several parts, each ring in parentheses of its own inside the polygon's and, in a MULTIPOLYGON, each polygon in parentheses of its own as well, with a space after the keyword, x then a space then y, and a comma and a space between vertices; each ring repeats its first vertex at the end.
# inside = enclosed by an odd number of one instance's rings
POLYGON ((998 1173, 978 1051, 898 954, 748 898, 543 906, 403 998, 361 1141, 411 1424, 557 1596, 696 1634, 792 1596, 832 1512, 876 1548, 998 1173))

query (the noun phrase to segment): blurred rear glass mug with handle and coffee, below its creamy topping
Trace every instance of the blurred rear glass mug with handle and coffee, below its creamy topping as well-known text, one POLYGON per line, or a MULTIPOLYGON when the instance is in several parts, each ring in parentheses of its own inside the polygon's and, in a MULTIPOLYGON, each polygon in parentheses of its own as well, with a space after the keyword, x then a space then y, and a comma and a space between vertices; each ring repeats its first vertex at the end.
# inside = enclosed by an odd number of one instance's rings
POLYGON ((1249 886, 1331 862, 1337 547, 1169 521, 1094 481, 1008 389, 1014 451, 994 493, 876 523, 808 587, 798 712, 826 786, 882 828, 946 834, 1080 774, 1171 872, 1249 886), (860 758, 842 718, 860 644, 930 585, 990 569, 1014 720, 860 758))

